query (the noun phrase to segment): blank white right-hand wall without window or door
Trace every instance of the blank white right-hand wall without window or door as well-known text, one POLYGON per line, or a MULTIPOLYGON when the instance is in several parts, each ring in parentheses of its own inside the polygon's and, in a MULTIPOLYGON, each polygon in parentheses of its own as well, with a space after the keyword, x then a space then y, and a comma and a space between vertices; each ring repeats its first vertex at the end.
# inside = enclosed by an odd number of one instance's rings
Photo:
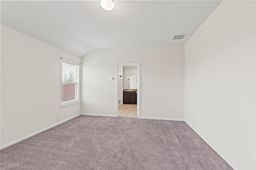
POLYGON ((255 1, 223 1, 185 44, 185 121, 234 168, 256 169, 255 1))

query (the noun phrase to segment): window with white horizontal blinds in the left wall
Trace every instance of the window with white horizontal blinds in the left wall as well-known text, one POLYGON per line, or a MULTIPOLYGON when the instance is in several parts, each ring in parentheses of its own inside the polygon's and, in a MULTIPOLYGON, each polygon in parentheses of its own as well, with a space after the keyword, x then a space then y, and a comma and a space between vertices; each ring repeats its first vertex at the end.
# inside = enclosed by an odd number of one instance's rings
POLYGON ((79 63, 62 59, 62 105, 78 102, 79 63))

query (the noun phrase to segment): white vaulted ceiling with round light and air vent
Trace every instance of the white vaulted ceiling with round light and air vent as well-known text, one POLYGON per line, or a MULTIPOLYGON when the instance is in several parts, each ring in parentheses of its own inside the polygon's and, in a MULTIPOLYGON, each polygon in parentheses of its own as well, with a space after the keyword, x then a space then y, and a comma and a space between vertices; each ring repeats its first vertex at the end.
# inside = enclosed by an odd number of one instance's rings
POLYGON ((78 55, 94 49, 184 44, 221 1, 1 1, 1 24, 78 55), (181 40, 174 35, 186 34, 181 40))

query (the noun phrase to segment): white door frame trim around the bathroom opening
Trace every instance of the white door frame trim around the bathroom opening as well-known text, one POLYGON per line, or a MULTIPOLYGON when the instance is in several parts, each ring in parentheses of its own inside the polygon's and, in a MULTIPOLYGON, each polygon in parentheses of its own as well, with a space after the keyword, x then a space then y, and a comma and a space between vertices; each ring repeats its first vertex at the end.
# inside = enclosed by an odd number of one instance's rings
POLYGON ((116 117, 118 117, 118 66, 137 66, 138 87, 137 87, 137 116, 140 118, 140 63, 116 63, 116 117))

